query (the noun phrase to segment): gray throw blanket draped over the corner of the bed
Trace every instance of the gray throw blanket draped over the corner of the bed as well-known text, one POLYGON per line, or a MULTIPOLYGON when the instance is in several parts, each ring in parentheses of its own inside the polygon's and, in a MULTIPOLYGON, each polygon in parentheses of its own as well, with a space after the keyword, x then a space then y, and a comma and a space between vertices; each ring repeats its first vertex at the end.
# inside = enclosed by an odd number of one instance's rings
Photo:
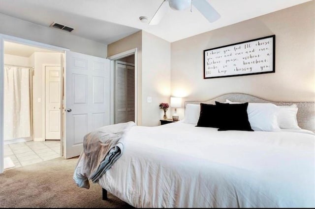
POLYGON ((73 179, 79 187, 89 189, 93 183, 115 163, 124 150, 125 135, 132 121, 104 126, 87 134, 83 141, 83 152, 75 168, 73 179))

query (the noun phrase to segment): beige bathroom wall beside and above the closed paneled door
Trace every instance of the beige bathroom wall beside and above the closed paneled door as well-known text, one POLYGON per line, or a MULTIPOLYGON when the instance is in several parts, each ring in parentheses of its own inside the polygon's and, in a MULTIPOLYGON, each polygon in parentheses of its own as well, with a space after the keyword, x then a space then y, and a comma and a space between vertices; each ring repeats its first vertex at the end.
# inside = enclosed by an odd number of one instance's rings
POLYGON ((44 64, 61 65, 61 53, 35 52, 34 54, 34 81, 33 81, 33 119, 34 140, 43 140, 43 126, 45 125, 45 69, 44 64), (40 99, 40 102, 38 102, 40 99))

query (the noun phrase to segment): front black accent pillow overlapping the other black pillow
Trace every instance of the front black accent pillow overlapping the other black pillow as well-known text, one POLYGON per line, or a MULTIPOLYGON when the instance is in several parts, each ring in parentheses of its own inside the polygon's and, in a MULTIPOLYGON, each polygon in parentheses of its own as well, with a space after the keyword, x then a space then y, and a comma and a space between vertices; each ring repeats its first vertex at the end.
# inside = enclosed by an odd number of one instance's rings
POLYGON ((242 104, 225 104, 216 101, 218 112, 220 114, 219 130, 239 130, 253 131, 248 120, 247 106, 248 103, 242 104))

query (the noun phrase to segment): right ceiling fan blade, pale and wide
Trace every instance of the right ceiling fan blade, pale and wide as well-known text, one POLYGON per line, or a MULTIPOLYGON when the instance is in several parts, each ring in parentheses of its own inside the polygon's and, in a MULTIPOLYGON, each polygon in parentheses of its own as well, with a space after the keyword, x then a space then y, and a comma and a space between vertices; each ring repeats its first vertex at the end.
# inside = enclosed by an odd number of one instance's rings
POLYGON ((221 15, 210 5, 208 0, 192 0, 192 5, 210 22, 218 20, 221 15))

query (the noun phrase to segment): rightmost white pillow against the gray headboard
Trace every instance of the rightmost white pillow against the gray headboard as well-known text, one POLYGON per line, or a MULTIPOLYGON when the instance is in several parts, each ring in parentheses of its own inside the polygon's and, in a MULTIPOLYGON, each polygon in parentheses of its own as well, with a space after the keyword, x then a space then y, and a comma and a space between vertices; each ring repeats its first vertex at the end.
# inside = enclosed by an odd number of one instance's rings
POLYGON ((281 129, 301 130, 297 124, 296 114, 298 108, 295 106, 279 106, 279 124, 281 129))

